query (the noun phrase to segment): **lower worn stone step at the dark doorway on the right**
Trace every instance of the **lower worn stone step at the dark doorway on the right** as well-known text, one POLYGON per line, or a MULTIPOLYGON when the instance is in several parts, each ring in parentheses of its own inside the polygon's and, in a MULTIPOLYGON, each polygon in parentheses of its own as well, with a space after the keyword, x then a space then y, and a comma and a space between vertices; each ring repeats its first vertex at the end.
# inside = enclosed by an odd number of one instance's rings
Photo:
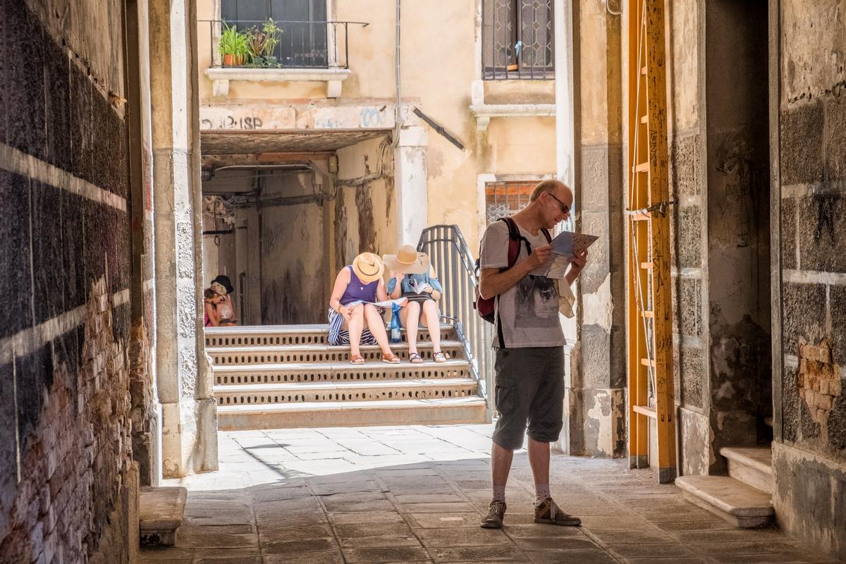
POLYGON ((676 485, 684 497, 742 528, 772 524, 774 512, 769 494, 729 476, 681 476, 676 485))

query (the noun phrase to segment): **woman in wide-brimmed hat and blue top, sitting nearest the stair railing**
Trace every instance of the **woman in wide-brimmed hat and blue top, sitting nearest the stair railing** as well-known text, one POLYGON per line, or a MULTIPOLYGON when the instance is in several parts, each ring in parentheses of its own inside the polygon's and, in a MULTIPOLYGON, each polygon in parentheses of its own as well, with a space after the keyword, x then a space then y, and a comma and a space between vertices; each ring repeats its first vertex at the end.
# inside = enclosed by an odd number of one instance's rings
POLYGON ((399 320, 405 327, 409 338, 409 360, 419 364, 423 362, 417 352, 417 329, 425 326, 429 330, 432 344, 432 360, 447 362, 441 352, 441 312, 437 309, 437 300, 441 298, 443 288, 437 282, 434 273, 430 275, 429 255, 418 253, 411 245, 403 245, 396 255, 382 257, 385 265, 391 269, 387 282, 387 292, 391 298, 408 298, 405 307, 399 312, 399 320))

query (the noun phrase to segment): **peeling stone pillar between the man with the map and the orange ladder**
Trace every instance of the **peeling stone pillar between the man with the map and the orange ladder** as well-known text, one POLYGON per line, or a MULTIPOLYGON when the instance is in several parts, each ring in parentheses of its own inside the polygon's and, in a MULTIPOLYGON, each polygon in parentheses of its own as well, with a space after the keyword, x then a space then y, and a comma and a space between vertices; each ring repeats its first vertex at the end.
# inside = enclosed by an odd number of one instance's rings
MULTIPOLYGON (((568 382, 572 454, 625 453, 625 279, 620 18, 574 0, 575 231, 599 235, 577 293, 578 340, 568 382)), ((561 139, 562 137, 559 137, 561 139)))

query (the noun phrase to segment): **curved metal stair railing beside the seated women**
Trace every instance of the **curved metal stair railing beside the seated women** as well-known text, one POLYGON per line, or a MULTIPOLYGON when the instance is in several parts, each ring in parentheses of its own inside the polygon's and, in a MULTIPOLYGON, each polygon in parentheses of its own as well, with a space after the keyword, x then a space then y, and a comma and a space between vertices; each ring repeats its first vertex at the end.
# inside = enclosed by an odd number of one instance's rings
POLYGON ((487 403, 487 419, 492 416, 493 403, 493 329, 475 310, 475 260, 457 225, 435 225, 420 233, 417 249, 431 259, 437 279, 443 286, 441 313, 455 327, 456 336, 470 360, 470 370, 477 381, 481 396, 487 403))

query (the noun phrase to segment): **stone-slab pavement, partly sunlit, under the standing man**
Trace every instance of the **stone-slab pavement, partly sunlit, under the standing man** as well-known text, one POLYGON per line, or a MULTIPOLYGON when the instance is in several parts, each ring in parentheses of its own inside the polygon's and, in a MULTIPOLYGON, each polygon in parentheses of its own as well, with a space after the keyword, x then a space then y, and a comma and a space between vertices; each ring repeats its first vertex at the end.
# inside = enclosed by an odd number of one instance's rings
POLYGON ((777 530, 742 530, 621 461, 553 455, 552 496, 580 528, 532 523, 525 450, 514 457, 502 530, 490 502, 492 426, 232 431, 220 471, 189 489, 177 547, 144 564, 508 561, 823 562, 777 530))

